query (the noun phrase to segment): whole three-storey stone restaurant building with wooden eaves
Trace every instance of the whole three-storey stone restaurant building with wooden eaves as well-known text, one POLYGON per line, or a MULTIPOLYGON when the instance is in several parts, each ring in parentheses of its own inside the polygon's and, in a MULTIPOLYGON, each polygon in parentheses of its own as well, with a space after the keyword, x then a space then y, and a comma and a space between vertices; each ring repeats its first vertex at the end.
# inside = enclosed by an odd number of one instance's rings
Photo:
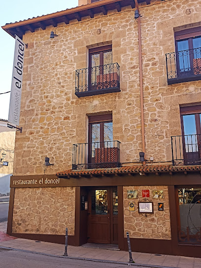
POLYGON ((201 2, 138 2, 141 55, 134 0, 2 27, 28 44, 9 234, 200 257, 201 2))

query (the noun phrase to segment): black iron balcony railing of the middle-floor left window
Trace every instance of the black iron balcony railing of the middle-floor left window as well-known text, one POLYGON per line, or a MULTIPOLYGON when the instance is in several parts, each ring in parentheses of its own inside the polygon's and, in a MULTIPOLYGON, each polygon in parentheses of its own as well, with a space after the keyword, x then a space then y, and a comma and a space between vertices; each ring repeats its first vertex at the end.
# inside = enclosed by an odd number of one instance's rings
POLYGON ((72 169, 120 166, 119 141, 73 144, 72 169))

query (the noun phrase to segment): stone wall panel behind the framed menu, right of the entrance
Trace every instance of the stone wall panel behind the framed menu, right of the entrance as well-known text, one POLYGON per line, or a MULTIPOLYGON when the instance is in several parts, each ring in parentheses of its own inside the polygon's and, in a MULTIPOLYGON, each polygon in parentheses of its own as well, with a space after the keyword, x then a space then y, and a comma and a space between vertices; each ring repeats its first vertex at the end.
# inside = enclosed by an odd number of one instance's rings
MULTIPOLYGON (((144 199, 143 199, 144 201, 144 199)), ((124 236, 129 231, 131 238, 171 239, 169 200, 167 186, 124 187, 124 236), (128 190, 137 190, 138 198, 127 198, 128 190), (154 214, 147 217, 138 213, 138 201, 142 201, 142 190, 149 190, 150 201, 154 202, 154 214), (164 198, 152 198, 152 190, 163 190, 164 198), (134 202, 135 211, 129 211, 129 202, 134 202), (164 211, 158 211, 158 202, 164 203, 164 211)))

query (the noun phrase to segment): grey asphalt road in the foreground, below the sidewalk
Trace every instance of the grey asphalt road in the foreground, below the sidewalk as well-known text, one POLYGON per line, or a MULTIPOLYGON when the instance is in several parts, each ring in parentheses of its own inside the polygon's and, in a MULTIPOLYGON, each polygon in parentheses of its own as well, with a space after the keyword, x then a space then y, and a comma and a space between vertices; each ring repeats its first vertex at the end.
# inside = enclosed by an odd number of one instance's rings
POLYGON ((122 264, 91 262, 84 260, 65 259, 0 249, 0 268, 141 268, 122 264))

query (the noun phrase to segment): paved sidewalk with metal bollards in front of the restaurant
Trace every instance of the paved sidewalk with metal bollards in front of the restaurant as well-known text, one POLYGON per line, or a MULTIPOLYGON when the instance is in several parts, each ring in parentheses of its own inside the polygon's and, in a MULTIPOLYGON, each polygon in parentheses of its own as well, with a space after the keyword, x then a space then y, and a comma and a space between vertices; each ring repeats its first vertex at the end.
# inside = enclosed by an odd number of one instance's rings
MULTIPOLYGON (((0 223, 0 233, 6 233, 7 222, 0 223)), ((1 238, 1 236, 0 236, 1 238)), ((18 250, 26 250, 31 252, 50 254, 54 256, 63 256, 64 245, 36 242, 34 240, 15 238, 10 236, 12 240, 0 240, 1 247, 8 247, 18 250)), ((94 249, 85 247, 67 247, 68 257, 83 258, 83 259, 96 259, 114 262, 129 262, 129 253, 117 250, 94 249)), ((163 266, 173 268, 201 268, 201 258, 190 258, 181 256, 161 255, 133 252, 133 260, 138 265, 150 266, 163 266)))

